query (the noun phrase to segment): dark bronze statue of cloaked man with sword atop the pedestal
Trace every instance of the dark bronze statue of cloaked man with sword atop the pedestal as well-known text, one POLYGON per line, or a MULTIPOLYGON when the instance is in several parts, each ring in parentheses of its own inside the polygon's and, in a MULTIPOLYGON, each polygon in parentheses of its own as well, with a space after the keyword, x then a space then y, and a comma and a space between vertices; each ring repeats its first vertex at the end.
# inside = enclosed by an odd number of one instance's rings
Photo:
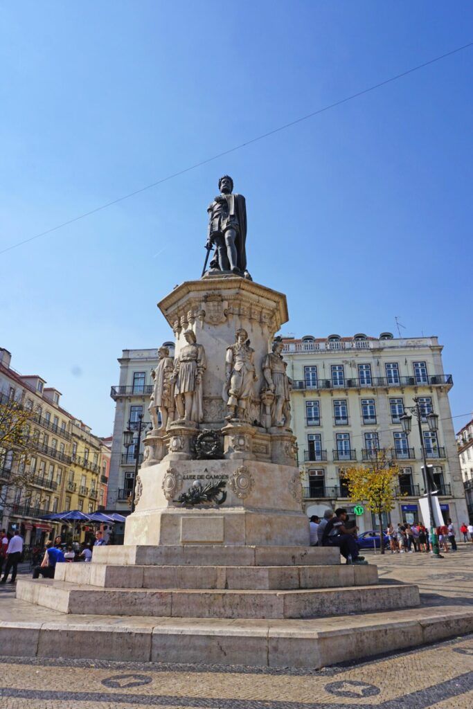
POLYGON ((250 279, 246 268, 246 203, 243 194, 233 194, 233 179, 218 180, 220 194, 208 206, 206 248, 215 246, 211 269, 250 279))

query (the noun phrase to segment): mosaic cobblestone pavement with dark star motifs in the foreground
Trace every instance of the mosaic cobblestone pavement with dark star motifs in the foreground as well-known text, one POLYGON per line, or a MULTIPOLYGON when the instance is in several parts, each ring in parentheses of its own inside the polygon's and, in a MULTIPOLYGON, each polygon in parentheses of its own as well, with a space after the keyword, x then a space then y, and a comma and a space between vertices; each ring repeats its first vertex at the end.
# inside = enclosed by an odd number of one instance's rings
POLYGON ((466 709, 473 635, 318 671, 2 658, 2 709, 466 709))

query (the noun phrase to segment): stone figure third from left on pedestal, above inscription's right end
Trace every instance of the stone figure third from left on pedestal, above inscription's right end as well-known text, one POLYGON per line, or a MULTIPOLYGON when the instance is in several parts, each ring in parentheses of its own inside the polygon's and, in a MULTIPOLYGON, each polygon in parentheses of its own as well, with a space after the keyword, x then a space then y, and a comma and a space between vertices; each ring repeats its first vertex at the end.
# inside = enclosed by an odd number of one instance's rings
POLYGON ((247 331, 237 330, 235 345, 227 347, 225 362, 223 398, 228 406, 226 420, 250 420, 253 383, 257 381, 254 354, 247 331))

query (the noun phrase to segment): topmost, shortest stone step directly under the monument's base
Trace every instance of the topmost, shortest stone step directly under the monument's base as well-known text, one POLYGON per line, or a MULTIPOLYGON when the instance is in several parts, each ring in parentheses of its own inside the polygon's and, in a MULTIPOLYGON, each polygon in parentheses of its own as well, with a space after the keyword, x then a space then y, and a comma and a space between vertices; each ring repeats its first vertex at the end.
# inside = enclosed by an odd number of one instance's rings
POLYGON ((321 566, 340 564, 336 547, 216 545, 94 547, 92 563, 138 566, 321 566))

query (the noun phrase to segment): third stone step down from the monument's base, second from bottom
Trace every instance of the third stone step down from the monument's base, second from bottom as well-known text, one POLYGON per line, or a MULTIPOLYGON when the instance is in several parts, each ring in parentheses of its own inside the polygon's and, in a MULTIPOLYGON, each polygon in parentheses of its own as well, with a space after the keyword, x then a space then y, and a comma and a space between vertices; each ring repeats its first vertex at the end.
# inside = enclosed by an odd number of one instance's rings
POLYGON ((16 597, 62 613, 169 618, 321 618, 418 605, 408 584, 345 586, 306 591, 97 588, 52 579, 18 579, 16 597))

